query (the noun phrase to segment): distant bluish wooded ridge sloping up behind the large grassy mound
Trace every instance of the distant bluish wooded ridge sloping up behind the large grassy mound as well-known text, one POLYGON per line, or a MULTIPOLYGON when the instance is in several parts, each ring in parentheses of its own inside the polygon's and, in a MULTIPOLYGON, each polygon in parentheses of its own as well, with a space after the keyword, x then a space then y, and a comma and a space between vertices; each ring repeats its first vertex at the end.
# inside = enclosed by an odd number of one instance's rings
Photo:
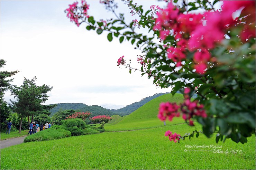
POLYGON ((116 109, 110 109, 110 110, 113 111, 116 115, 120 115, 120 116, 129 115, 130 113, 137 110, 144 104, 148 103, 150 100, 153 100, 154 98, 157 98, 164 94, 167 94, 167 93, 158 93, 158 94, 155 94, 154 96, 149 96, 149 97, 143 98, 140 100, 140 102, 135 102, 130 105, 127 105, 124 108, 117 109, 117 110, 116 109))

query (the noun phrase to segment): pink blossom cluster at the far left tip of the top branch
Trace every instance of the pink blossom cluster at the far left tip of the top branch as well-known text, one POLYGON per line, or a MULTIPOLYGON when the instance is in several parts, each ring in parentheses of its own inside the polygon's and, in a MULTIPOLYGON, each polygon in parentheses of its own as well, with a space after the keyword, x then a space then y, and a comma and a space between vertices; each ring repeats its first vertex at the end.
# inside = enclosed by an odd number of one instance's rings
POLYGON ((78 7, 77 4, 78 2, 76 1, 69 5, 69 8, 67 8, 65 12, 67 12, 67 18, 69 18, 71 22, 74 21, 76 25, 79 26, 79 19, 82 19, 83 17, 89 17, 87 14, 89 4, 87 4, 84 0, 81 1, 81 7, 78 7))

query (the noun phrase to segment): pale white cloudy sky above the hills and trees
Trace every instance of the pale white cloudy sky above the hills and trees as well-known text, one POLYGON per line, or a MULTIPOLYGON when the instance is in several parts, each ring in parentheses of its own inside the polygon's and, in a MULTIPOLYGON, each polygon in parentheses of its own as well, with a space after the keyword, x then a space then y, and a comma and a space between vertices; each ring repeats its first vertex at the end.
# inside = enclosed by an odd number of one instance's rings
MULTIPOLYGON (((135 19, 119 2, 119 10, 135 19)), ((20 86, 23 78, 37 77, 37 85, 53 86, 45 104, 84 103, 106 108, 120 108, 155 93, 171 89, 156 88, 152 79, 141 77, 117 66, 141 54, 130 42, 108 42, 107 33, 79 28, 66 18, 64 10, 73 1, 0 1, 0 57, 7 63, 1 71, 20 71, 12 84, 20 86)), ((88 1, 89 14, 96 19, 113 17, 98 1, 88 1)), ((155 1, 138 1, 145 7, 155 1)), ((158 2, 159 3, 159 2, 158 2)), ((165 4, 165 3, 162 3, 165 4)), ((136 65, 136 64, 135 64, 136 65)), ((7 102, 12 98, 6 92, 7 102)))

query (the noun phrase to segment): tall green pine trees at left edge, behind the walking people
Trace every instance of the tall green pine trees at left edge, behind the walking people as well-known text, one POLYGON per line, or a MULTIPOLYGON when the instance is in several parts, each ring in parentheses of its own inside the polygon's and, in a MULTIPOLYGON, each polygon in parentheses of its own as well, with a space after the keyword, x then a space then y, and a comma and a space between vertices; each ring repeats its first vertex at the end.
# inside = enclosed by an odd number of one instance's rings
MULTIPOLYGON (((1 70, 5 64, 6 61, 1 59, 1 70)), ((36 77, 31 80, 24 77, 21 86, 12 85, 13 78, 8 78, 17 73, 19 73, 18 70, 1 71, 1 130, 6 127, 8 119, 12 119, 14 127, 18 128, 19 132, 21 129, 27 129, 30 120, 45 123, 51 120, 49 110, 56 106, 42 105, 48 100, 47 93, 53 87, 45 84, 36 85, 36 77), (15 100, 10 100, 9 104, 4 100, 4 92, 8 90, 15 98, 15 100)))

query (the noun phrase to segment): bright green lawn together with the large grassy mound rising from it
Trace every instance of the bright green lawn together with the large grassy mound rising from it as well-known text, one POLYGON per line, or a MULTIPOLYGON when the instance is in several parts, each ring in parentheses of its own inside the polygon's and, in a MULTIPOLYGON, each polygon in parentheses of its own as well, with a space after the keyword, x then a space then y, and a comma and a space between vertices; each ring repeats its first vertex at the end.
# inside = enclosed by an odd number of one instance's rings
MULTIPOLYGON (((170 101, 179 101, 180 97, 163 96, 170 101)), ((255 135, 246 144, 236 144, 230 139, 216 144, 214 136, 207 138, 203 134, 180 144, 170 141, 164 136, 165 131, 183 135, 195 127, 184 124, 180 118, 164 126, 154 117, 163 96, 119 118, 118 122, 106 124, 108 132, 1 149, 1 169, 255 169, 255 135), (228 153, 214 153, 214 148, 185 151, 189 149, 187 145, 219 146, 228 153), (241 153, 230 153, 230 150, 241 150, 241 153), (39 158, 28 163, 28 158, 35 155, 39 158)), ((195 125, 198 130, 201 128, 195 125)))

